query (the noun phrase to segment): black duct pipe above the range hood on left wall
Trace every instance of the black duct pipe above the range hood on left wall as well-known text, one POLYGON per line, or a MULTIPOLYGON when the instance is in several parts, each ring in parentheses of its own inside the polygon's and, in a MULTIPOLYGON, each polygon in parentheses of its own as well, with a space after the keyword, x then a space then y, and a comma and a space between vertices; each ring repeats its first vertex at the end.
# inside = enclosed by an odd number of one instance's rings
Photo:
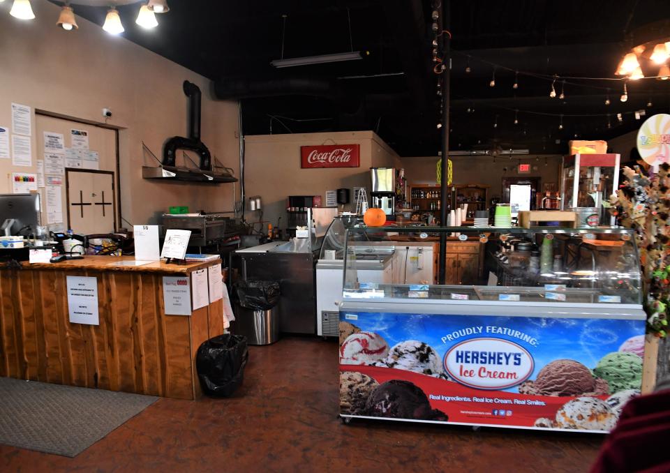
POLYGON ((200 88, 193 82, 184 81, 184 93, 188 100, 188 137, 173 136, 163 147, 163 165, 177 165, 177 150, 186 149, 194 151, 200 156, 200 169, 211 170, 211 154, 209 149, 200 141, 200 101, 202 93, 200 88))

